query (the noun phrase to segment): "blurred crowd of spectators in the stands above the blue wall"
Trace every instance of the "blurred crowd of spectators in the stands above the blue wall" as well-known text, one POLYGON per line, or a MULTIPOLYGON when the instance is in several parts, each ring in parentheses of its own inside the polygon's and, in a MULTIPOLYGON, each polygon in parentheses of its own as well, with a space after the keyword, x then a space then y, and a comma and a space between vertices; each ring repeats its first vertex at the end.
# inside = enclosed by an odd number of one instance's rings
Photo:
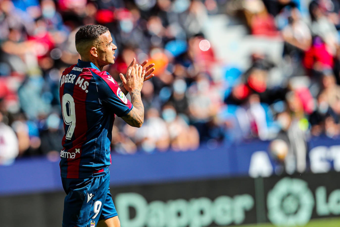
POLYGON ((156 68, 141 92, 143 126, 116 118, 113 152, 273 140, 279 162, 305 171, 309 138, 340 135, 340 1, 302 2, 0 0, 0 164, 58 158, 60 75, 80 58, 75 32, 101 24, 118 47, 116 63, 104 68, 117 81, 134 57, 156 68), (218 45, 204 34, 213 14, 226 14, 250 36, 280 40, 282 60, 250 53, 244 70, 218 59, 218 45))

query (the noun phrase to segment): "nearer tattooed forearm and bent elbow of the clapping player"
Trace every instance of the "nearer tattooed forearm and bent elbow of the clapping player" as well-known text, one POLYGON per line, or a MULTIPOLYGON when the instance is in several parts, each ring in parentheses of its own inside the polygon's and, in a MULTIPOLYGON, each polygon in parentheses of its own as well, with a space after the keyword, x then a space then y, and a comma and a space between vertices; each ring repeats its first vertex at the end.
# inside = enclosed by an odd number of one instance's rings
POLYGON ((130 92, 131 102, 133 104, 132 110, 122 119, 133 127, 141 127, 144 122, 144 106, 140 97, 140 91, 133 89, 130 92))

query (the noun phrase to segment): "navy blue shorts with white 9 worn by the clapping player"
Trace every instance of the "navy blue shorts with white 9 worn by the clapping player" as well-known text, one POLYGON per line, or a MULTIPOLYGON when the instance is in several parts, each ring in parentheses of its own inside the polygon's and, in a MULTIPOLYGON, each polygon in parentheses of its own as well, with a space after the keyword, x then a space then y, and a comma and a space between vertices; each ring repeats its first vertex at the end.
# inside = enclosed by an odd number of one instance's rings
POLYGON ((110 174, 87 179, 62 178, 66 192, 63 227, 94 227, 117 216, 110 193, 110 174))

